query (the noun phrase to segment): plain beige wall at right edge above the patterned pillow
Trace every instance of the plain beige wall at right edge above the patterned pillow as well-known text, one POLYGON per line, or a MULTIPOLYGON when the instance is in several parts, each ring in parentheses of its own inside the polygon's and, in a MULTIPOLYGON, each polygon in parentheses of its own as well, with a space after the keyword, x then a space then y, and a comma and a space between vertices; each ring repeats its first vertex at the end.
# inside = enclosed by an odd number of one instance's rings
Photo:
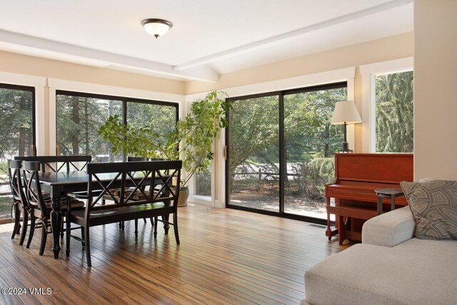
POLYGON ((414 179, 457 180, 457 1, 414 1, 414 179))

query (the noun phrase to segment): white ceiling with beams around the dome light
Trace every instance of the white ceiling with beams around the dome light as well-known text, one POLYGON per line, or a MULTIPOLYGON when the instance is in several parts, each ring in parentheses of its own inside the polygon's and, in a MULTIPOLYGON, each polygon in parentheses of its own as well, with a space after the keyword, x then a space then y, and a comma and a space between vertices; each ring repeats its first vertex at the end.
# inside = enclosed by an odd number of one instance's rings
POLYGON ((0 50, 172 79, 413 30, 413 0, 0 0, 0 50), (155 39, 141 21, 166 19, 155 39))

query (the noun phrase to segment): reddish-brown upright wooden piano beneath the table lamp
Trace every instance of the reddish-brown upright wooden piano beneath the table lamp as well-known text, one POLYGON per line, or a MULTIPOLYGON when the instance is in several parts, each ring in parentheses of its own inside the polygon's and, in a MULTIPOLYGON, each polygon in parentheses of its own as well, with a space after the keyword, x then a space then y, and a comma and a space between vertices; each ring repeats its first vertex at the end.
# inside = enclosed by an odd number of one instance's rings
MULTIPOLYGON (((344 239, 361 240, 363 222, 377 215, 374 189, 400 187, 401 181, 413 181, 413 154, 334 154, 335 182, 326 184, 326 236, 338 234, 344 239), (334 202, 331 201, 334 199, 334 202), (330 224, 335 214, 336 226, 330 224)), ((390 201, 383 199, 383 207, 390 201)), ((406 206, 401 196, 396 206, 406 206)))

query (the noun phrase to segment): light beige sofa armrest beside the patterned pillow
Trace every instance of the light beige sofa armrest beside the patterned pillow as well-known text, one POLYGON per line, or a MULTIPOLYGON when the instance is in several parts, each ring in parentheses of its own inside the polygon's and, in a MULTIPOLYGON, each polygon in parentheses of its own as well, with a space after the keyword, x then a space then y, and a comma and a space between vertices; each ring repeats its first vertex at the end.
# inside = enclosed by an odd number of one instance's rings
POLYGON ((362 227, 362 243, 393 247, 412 239, 415 229, 413 214, 409 206, 405 206, 366 221, 362 227))

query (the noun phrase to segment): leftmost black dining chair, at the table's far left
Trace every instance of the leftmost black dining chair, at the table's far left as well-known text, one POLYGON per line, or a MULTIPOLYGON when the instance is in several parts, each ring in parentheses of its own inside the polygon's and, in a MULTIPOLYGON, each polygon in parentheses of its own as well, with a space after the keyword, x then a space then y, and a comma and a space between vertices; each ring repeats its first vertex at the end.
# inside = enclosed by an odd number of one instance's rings
POLYGON ((22 162, 17 160, 8 160, 8 176, 11 194, 13 195, 14 203, 14 229, 11 239, 14 239, 16 234, 22 227, 21 239, 19 244, 24 244, 24 239, 27 232, 27 225, 29 224, 29 206, 24 195, 24 188, 21 181, 21 166, 22 162), (22 226, 20 224, 22 214, 22 226))

